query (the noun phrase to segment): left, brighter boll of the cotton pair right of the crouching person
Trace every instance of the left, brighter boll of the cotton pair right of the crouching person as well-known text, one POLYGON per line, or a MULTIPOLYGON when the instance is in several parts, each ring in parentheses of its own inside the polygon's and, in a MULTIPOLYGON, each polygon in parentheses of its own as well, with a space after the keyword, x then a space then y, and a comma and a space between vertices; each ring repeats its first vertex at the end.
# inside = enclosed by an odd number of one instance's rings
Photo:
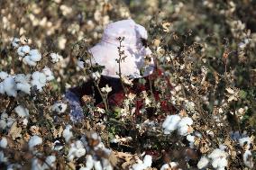
POLYGON ((163 121, 162 128, 164 130, 164 134, 170 134, 170 132, 178 129, 178 122, 181 120, 178 114, 169 115, 163 121))

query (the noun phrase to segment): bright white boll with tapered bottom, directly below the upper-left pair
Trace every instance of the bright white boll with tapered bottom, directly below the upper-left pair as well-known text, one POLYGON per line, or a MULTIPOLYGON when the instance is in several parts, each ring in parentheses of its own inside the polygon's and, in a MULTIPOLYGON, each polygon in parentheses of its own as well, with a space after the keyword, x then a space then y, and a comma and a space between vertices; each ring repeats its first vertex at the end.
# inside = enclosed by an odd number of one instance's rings
POLYGON ((39 72, 36 71, 32 74, 32 86, 36 86, 36 88, 41 92, 42 91, 42 87, 44 87, 46 85, 46 76, 39 72))

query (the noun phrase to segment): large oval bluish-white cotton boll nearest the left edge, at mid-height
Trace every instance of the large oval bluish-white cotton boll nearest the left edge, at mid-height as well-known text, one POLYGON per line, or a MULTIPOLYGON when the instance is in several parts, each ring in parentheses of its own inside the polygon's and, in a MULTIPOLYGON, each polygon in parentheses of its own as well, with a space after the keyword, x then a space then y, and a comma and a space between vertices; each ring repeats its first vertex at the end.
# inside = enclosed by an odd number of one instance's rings
POLYGON ((14 81, 14 77, 8 76, 4 80, 4 90, 5 93, 9 96, 17 96, 17 85, 14 81))

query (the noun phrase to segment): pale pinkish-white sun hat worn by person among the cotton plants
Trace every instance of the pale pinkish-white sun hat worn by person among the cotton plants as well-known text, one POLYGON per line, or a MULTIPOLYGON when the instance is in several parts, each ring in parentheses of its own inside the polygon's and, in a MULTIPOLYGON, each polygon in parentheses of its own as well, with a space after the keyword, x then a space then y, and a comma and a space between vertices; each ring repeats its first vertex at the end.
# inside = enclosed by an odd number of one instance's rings
POLYGON ((146 29, 133 20, 123 20, 110 23, 106 26, 102 40, 93 48, 89 49, 92 55, 92 63, 105 66, 103 76, 119 77, 118 47, 119 37, 124 37, 122 46, 124 55, 127 56, 121 62, 121 73, 130 78, 149 76, 154 70, 154 61, 151 58, 151 49, 143 46, 142 39, 147 40, 146 29), (145 57, 150 58, 145 64, 145 57), (143 70, 143 72, 141 72, 143 70), (141 74, 143 73, 143 74, 141 74))

